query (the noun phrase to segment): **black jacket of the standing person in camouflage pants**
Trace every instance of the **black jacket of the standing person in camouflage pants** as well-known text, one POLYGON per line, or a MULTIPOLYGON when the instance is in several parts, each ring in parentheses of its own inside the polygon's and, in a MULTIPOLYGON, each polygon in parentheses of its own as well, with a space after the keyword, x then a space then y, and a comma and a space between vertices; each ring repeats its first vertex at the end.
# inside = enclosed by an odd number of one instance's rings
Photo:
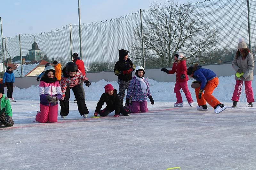
POLYGON ((132 64, 130 59, 123 60, 120 59, 115 64, 115 74, 118 76, 118 79, 123 81, 130 81, 132 80, 132 72, 130 74, 123 74, 123 71, 129 70, 132 68, 132 71, 135 70, 135 65, 132 64))

